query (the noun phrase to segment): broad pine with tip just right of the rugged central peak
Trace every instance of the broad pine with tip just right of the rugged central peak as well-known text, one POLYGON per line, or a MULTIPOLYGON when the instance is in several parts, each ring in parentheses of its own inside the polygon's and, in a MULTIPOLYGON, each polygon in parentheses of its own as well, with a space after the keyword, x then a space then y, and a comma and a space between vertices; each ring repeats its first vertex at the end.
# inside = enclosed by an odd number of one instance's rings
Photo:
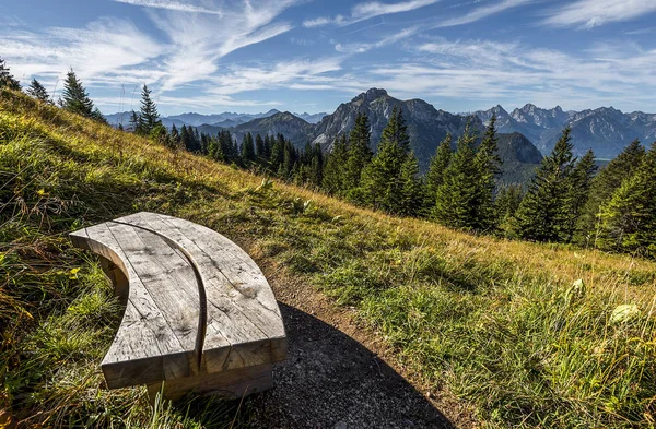
POLYGON ((400 109, 391 111, 380 135, 378 152, 363 171, 365 203, 376 210, 400 213, 401 167, 410 153, 410 138, 400 109))

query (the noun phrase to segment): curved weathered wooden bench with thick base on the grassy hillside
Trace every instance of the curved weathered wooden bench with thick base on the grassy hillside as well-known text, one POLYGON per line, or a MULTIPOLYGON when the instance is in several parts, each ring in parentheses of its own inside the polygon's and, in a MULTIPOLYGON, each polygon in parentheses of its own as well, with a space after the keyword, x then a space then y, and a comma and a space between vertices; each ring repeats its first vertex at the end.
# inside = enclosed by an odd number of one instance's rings
POLYGON ((147 212, 70 238, 102 257, 126 306, 101 365, 109 389, 147 384, 151 398, 163 390, 177 400, 192 390, 239 397, 272 388, 284 326, 267 279, 238 246, 147 212))

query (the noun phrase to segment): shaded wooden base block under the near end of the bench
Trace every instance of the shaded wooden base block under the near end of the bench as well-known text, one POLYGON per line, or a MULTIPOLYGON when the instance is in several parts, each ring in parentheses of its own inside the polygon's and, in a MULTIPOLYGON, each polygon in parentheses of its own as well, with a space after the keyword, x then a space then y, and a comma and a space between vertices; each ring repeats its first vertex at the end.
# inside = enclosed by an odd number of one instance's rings
POLYGON ((271 371, 271 364, 267 364, 210 374, 200 373, 183 379, 166 380, 164 383, 149 384, 148 394, 151 403, 154 403, 155 395, 162 389, 164 397, 171 401, 177 401, 188 392, 234 400, 273 388, 271 371))

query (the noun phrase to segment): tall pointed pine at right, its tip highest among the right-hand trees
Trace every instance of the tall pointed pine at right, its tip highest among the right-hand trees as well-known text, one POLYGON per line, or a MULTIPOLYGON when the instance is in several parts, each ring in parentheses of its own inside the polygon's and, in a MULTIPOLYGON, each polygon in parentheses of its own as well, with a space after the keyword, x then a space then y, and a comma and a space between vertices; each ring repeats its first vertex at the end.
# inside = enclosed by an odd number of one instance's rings
POLYGON ((574 168, 570 128, 563 131, 549 156, 530 181, 515 223, 520 238, 535 241, 565 241, 567 231, 569 177, 574 168))

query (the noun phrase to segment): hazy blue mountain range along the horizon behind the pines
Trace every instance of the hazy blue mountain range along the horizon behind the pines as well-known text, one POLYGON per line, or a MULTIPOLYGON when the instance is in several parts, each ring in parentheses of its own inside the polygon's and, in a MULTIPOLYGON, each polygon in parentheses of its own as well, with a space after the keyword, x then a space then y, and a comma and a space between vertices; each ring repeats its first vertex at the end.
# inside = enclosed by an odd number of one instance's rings
MULTIPOLYGON (((400 100, 385 90, 371 88, 348 103, 342 103, 331 115, 292 114, 271 109, 262 114, 223 112, 218 115, 183 114, 162 118, 164 126, 197 127, 199 131, 215 134, 230 130, 235 139, 251 134, 282 133, 297 147, 307 143, 320 144, 330 151, 335 139, 348 133, 359 114, 366 114, 371 124, 372 145, 377 146, 391 110, 402 110, 408 126, 412 150, 421 171, 427 170, 430 159, 440 142, 450 133, 460 135, 467 123, 482 134, 492 115, 496 115, 500 133, 499 151, 504 165, 501 181, 526 182, 542 155, 553 148, 564 127, 572 129, 572 143, 576 155, 591 148, 598 158, 613 158, 633 139, 643 143, 656 140, 656 115, 635 111, 623 114, 612 107, 582 111, 564 111, 560 106, 542 109, 527 104, 508 114, 502 106, 472 114, 450 114, 431 104, 413 98, 400 100)), ((106 117, 113 124, 129 120, 129 114, 106 117)), ((455 144, 455 139, 454 139, 455 144)))

